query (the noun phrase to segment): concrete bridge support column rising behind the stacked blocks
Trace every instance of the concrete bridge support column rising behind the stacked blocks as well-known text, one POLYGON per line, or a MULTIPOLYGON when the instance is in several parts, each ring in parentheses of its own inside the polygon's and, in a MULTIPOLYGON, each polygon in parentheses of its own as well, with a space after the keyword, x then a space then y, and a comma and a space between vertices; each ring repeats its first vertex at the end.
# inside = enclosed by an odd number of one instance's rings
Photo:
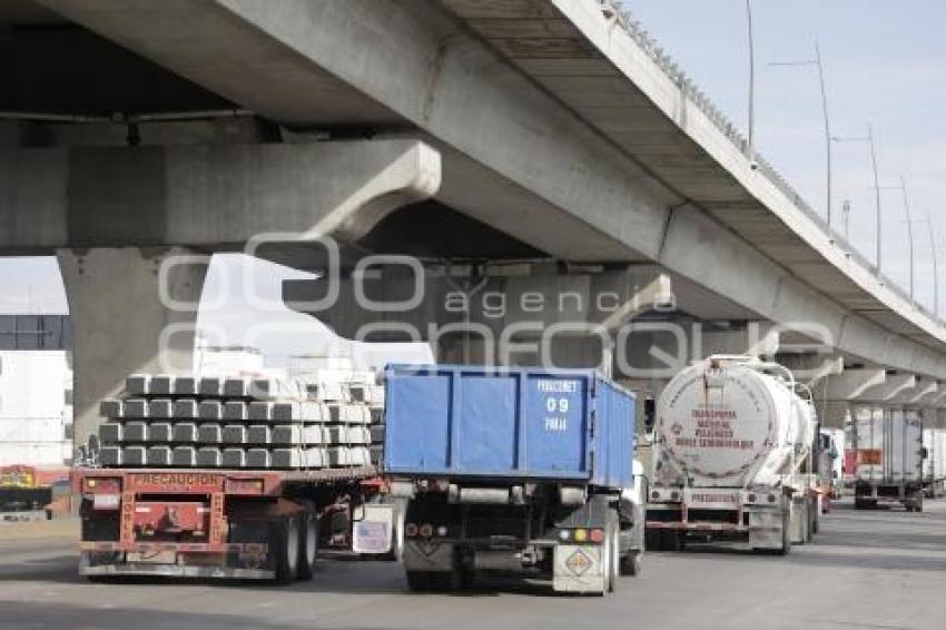
POLYGON ((132 372, 193 370, 207 258, 180 247, 57 250, 73 328, 73 441, 132 372))

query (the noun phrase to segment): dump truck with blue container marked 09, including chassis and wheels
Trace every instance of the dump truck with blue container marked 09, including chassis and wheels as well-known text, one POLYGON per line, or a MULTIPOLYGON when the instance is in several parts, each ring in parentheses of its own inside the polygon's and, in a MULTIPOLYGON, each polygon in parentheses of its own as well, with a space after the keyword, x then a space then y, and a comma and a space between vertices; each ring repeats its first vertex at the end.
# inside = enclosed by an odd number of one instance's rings
POLYGON ((633 394, 588 370, 460 365, 390 366, 385 387, 412 590, 512 577, 603 594, 640 570, 633 394))

